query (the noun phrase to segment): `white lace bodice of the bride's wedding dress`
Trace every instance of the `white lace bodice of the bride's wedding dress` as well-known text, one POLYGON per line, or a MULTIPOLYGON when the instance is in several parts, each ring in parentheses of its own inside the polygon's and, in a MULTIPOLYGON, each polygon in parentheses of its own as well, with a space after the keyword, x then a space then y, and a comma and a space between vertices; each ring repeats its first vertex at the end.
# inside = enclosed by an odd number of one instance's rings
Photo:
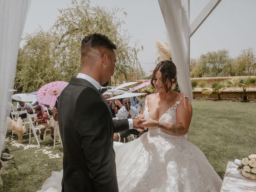
MULTIPOLYGON (((166 123, 171 123, 171 122, 176 123, 177 122, 176 109, 184 98, 188 98, 188 96, 183 96, 182 98, 180 98, 180 100, 176 101, 164 114, 162 114, 162 116, 158 119, 158 121, 166 122, 166 123)), ((144 110, 143 114, 145 115, 145 118, 150 118, 147 98, 145 98, 145 110, 144 110)), ((166 132, 163 132, 162 130, 160 130, 157 127, 149 128, 149 134, 151 136, 160 135, 160 136, 171 137, 171 138, 173 138, 173 137, 188 138, 187 134, 184 136, 174 136, 174 135, 168 134, 166 132)))

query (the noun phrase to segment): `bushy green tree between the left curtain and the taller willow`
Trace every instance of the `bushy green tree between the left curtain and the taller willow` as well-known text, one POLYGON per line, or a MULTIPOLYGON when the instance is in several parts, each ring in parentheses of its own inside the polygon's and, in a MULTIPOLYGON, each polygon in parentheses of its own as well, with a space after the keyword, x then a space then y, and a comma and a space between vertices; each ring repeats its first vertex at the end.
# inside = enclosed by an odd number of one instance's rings
POLYGON ((48 82, 62 80, 52 55, 52 34, 39 29, 24 40, 26 44, 18 52, 15 88, 32 92, 48 82))

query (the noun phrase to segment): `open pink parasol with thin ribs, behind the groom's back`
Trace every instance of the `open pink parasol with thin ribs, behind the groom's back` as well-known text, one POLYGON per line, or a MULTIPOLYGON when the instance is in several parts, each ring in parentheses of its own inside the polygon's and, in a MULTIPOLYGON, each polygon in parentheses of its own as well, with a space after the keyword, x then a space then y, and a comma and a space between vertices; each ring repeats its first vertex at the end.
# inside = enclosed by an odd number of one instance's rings
POLYGON ((68 83, 65 81, 55 81, 45 84, 37 91, 36 98, 44 105, 54 105, 57 97, 67 85, 68 83))

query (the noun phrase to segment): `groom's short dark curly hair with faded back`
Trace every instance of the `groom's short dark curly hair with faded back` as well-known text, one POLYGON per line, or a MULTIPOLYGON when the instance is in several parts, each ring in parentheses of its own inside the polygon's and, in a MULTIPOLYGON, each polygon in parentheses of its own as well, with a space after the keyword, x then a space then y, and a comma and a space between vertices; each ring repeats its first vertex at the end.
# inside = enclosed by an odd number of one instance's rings
POLYGON ((83 38, 81 56, 83 57, 90 48, 106 48, 113 51, 113 49, 116 49, 116 45, 112 43, 106 35, 93 33, 83 38))

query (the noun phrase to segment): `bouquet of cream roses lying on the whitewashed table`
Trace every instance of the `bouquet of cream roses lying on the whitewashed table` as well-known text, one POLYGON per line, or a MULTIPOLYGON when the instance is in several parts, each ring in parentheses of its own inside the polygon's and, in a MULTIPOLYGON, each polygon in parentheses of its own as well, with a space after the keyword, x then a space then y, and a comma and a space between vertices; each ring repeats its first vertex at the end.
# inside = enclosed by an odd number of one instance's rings
POLYGON ((241 170, 244 177, 256 180, 256 154, 251 154, 242 161, 236 159, 234 162, 238 165, 237 170, 241 170))

